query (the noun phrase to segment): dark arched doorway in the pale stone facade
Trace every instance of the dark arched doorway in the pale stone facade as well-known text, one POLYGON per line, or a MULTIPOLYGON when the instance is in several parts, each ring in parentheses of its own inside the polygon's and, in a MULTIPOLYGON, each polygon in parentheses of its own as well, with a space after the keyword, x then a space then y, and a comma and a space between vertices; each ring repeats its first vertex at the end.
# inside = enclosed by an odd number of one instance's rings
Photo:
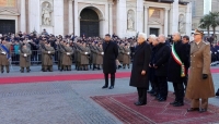
POLYGON ((97 13, 87 8, 81 11, 80 17, 80 35, 85 35, 85 37, 99 37, 100 20, 97 13))

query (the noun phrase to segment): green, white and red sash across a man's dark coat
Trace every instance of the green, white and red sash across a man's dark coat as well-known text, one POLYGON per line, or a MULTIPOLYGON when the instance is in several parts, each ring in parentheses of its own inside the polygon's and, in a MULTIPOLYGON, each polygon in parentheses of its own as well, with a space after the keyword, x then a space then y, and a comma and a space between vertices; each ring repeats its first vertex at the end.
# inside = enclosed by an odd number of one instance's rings
POLYGON ((181 65, 181 77, 185 77, 185 65, 181 61, 181 59, 177 55, 177 53, 175 52, 175 44, 173 44, 173 46, 172 46, 172 52, 171 52, 171 54, 172 54, 173 59, 175 60, 175 62, 181 65))

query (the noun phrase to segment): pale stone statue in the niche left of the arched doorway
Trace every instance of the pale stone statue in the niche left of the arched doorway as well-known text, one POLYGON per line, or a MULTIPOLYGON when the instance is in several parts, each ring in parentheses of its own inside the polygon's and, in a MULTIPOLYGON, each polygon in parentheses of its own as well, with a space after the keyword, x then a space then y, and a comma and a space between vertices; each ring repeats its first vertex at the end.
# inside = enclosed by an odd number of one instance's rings
POLYGON ((51 12, 53 8, 49 2, 42 3, 42 24, 51 25, 51 12))

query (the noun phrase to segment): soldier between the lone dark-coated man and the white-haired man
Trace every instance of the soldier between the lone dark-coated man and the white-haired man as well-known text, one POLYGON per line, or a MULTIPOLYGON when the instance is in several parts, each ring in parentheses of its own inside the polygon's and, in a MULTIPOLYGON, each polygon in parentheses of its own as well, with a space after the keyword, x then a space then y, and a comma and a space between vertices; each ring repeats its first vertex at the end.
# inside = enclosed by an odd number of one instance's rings
POLYGON ((125 69, 127 65, 129 69, 130 67, 130 48, 127 46, 127 44, 125 45, 122 52, 123 52, 123 67, 125 69))

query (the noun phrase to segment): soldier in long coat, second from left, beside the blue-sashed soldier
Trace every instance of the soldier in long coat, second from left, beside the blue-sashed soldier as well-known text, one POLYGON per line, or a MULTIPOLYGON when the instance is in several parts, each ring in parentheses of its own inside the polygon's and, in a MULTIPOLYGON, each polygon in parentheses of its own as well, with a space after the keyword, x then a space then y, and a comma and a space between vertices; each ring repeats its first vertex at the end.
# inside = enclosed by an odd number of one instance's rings
POLYGON ((24 69, 26 67, 26 72, 30 72, 31 66, 31 49, 26 46, 26 44, 20 45, 20 67, 21 73, 24 73, 24 69))

